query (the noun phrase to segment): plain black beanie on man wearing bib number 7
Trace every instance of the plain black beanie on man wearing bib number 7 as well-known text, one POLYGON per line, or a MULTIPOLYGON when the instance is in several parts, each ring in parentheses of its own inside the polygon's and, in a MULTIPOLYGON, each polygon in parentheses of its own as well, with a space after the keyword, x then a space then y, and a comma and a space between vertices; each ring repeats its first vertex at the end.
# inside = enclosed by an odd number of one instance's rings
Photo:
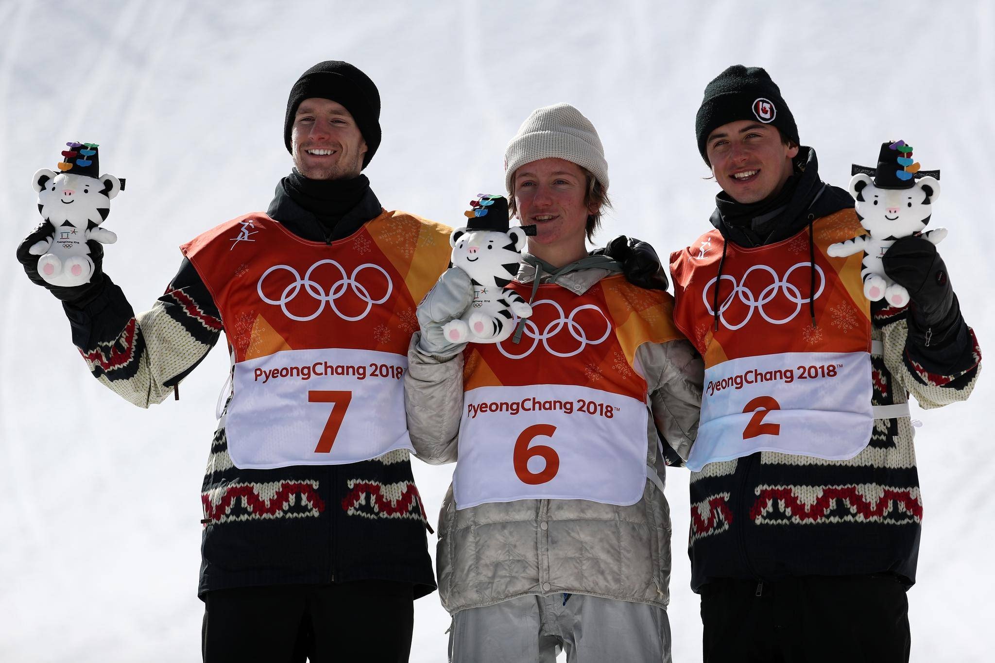
POLYGON ((294 116, 300 102, 311 97, 341 103, 356 120, 356 126, 366 141, 365 168, 380 147, 380 92, 376 85, 358 69, 340 60, 326 60, 301 74, 291 88, 287 117, 284 119, 284 144, 291 154, 294 153, 291 146, 294 116))

